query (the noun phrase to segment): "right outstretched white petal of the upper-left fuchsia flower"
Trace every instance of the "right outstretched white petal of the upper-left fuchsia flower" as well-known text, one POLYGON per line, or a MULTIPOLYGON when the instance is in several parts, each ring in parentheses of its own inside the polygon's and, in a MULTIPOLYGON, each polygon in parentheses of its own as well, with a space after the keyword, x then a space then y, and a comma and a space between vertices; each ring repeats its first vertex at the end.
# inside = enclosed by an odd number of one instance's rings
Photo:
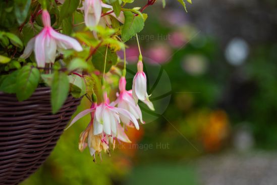
POLYGON ((56 42, 59 43, 58 47, 60 47, 61 44, 64 45, 65 49, 74 49, 77 52, 83 51, 83 48, 81 44, 74 38, 61 34, 52 28, 50 29, 50 35, 56 39, 56 42))

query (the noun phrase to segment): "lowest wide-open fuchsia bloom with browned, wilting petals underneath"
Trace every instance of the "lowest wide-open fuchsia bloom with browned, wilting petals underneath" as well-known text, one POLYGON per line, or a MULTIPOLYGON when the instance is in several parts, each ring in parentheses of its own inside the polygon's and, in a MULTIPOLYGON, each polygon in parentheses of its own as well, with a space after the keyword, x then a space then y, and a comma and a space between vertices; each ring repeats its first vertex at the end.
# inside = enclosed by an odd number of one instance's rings
POLYGON ((131 120, 136 129, 139 129, 136 118, 129 111, 109 105, 106 93, 104 94, 103 103, 98 106, 93 104, 90 109, 79 113, 72 120, 69 127, 89 113, 91 113, 91 121, 86 130, 80 135, 79 149, 83 151, 88 146, 92 156, 95 156, 95 152, 107 151, 109 142, 113 143, 115 148, 116 138, 123 142, 131 143, 120 124, 123 122, 123 117, 131 120), (87 143, 85 142, 86 138, 87 143))

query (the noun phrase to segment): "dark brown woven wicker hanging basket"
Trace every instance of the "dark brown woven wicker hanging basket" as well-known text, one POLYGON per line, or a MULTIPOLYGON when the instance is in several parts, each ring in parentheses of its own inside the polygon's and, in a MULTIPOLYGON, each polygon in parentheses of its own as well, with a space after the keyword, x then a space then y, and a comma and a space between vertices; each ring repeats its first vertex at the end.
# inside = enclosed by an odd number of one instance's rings
POLYGON ((18 184, 49 156, 81 99, 69 96, 52 115, 50 89, 39 87, 26 101, 0 92, 0 184, 18 184))

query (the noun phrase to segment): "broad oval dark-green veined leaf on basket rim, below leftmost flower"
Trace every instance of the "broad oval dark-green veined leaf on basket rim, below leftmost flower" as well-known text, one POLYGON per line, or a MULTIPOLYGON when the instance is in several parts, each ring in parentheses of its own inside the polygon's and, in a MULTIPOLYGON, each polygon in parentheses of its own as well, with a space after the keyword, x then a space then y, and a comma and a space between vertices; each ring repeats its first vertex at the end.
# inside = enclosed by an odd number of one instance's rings
POLYGON ((27 100, 37 88, 40 74, 37 68, 29 65, 19 70, 17 75, 16 97, 19 101, 27 100))

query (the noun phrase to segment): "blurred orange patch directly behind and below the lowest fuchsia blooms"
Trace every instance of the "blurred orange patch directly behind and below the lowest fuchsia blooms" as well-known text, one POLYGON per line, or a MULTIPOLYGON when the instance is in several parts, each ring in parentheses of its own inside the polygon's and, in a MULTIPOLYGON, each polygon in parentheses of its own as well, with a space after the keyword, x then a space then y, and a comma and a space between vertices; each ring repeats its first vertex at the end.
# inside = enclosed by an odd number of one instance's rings
POLYGON ((118 149, 120 149, 126 156, 134 157, 138 150, 138 143, 144 135, 143 125, 140 125, 139 130, 127 127, 127 131, 125 131, 125 133, 128 135, 132 143, 121 142, 118 144, 118 149))

